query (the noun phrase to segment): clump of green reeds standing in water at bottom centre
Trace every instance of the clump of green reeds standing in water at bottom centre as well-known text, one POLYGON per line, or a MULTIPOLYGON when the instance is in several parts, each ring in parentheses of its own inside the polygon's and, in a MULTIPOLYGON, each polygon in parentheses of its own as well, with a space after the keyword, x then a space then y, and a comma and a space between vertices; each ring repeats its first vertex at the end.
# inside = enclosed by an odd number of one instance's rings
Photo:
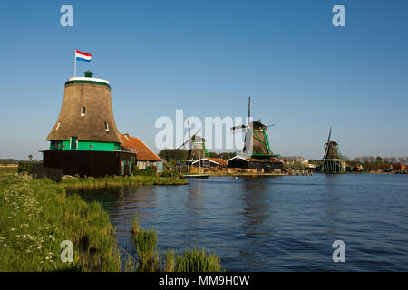
POLYGON ((168 249, 164 256, 160 256, 157 232, 151 228, 144 230, 139 226, 139 218, 133 218, 133 241, 136 244, 139 263, 136 271, 139 272, 221 272, 224 269, 221 261, 214 254, 206 254, 204 250, 194 247, 185 249, 184 255, 175 255, 174 250, 168 249))

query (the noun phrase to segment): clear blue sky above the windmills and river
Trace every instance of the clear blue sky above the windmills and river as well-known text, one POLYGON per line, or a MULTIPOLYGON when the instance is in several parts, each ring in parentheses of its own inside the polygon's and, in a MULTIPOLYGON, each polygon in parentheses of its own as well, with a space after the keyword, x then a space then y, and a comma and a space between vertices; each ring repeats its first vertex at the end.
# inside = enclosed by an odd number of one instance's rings
POLYGON ((278 154, 321 158, 332 126, 347 156, 408 156, 407 31, 406 0, 8 2, 0 158, 41 159, 75 47, 92 53, 79 75, 111 82, 119 130, 153 150, 158 117, 246 116, 251 95, 278 154))

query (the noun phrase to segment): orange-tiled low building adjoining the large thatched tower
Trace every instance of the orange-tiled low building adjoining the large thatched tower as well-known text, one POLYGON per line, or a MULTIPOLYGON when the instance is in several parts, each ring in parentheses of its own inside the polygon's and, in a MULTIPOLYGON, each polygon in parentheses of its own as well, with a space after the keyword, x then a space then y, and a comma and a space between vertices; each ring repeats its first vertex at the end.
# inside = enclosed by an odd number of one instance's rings
POLYGON ((121 134, 123 143, 121 150, 130 151, 137 156, 136 166, 138 169, 146 169, 149 166, 161 168, 161 159, 154 153, 142 140, 137 137, 132 137, 128 133, 121 134))

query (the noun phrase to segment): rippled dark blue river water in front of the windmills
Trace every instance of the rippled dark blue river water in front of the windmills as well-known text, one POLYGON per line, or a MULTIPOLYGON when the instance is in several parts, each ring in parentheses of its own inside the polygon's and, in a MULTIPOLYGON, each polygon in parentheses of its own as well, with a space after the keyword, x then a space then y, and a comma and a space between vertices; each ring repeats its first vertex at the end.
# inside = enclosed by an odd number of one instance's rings
POLYGON ((408 175, 209 177, 186 186, 73 190, 109 213, 136 256, 131 217, 160 252, 199 247, 227 271, 408 271, 408 175), (345 262, 332 244, 345 242, 345 262))

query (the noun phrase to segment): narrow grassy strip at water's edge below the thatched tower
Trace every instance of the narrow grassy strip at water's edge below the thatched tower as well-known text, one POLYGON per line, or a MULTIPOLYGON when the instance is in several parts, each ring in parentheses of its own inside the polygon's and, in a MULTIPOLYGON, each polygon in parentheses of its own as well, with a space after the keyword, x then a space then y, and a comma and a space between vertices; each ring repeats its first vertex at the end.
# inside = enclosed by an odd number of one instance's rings
POLYGON ((187 183, 188 181, 185 179, 153 176, 64 178, 62 182, 66 189, 108 189, 141 185, 183 185, 187 183))

